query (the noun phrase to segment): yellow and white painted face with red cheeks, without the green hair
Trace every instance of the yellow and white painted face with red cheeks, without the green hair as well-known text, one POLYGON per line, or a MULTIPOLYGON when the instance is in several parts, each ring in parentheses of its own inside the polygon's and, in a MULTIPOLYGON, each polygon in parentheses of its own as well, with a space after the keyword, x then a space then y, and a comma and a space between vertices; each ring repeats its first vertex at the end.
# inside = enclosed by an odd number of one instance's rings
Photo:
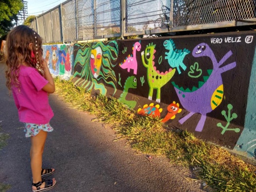
POLYGON ((97 47, 96 49, 92 50, 91 60, 90 60, 91 71, 94 78, 97 78, 99 76, 101 62, 102 62, 102 50, 100 49, 100 47, 97 47))

